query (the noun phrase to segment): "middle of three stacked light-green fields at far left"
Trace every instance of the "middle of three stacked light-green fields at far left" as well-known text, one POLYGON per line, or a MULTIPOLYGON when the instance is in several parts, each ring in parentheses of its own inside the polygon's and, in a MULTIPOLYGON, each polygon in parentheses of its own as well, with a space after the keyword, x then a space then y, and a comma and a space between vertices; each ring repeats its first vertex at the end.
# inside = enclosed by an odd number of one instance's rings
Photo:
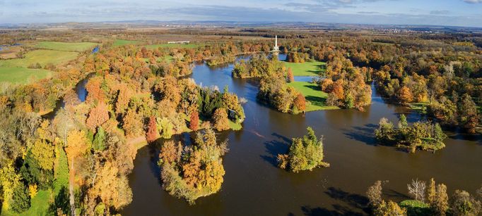
POLYGON ((24 67, 27 68, 28 65, 40 63, 44 67, 47 63, 52 63, 53 65, 58 65, 60 63, 65 63, 77 58, 78 53, 71 51, 57 51, 57 50, 47 50, 38 49, 30 51, 25 54, 25 58, 15 58, 0 61, 0 67, 24 67))

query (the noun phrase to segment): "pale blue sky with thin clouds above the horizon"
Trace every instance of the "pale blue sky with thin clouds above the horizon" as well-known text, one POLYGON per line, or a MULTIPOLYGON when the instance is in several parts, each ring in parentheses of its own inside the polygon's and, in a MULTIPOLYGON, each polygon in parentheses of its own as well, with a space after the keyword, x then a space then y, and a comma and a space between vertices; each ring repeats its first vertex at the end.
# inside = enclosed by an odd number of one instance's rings
POLYGON ((482 27, 482 0, 0 0, 0 23, 124 20, 482 27))

